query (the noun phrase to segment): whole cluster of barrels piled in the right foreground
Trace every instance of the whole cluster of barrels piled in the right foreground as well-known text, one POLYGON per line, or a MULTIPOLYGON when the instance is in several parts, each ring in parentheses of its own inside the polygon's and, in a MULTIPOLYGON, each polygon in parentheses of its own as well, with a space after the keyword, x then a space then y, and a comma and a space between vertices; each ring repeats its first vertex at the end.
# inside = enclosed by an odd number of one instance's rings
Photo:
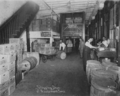
POLYGON ((86 65, 90 96, 119 96, 120 67, 109 59, 88 60, 86 65))

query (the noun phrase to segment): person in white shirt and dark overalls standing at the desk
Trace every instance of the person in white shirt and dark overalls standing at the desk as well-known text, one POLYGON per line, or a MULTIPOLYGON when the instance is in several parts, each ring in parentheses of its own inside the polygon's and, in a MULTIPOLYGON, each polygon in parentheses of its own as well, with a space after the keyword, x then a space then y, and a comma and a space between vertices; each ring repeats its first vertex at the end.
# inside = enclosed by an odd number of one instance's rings
POLYGON ((84 46, 84 50, 83 50, 83 69, 84 69, 84 71, 86 71, 87 60, 90 60, 91 49, 98 48, 98 47, 93 46, 91 44, 92 42, 93 42, 93 38, 89 38, 84 46))

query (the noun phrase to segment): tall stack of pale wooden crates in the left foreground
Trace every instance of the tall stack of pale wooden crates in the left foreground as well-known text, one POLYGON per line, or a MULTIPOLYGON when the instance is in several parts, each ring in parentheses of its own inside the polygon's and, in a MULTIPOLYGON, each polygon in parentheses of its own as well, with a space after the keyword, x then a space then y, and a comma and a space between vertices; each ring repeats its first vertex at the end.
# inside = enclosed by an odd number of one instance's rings
POLYGON ((8 96, 15 90, 15 45, 0 45, 0 96, 8 96))

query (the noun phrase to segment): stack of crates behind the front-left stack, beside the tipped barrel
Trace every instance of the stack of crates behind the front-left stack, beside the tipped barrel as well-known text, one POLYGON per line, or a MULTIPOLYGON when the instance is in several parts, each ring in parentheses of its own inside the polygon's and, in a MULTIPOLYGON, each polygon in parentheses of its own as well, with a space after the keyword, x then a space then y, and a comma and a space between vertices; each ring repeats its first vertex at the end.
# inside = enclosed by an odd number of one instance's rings
POLYGON ((22 38, 10 38, 10 44, 15 45, 16 51, 16 66, 15 66, 15 80, 16 85, 22 80, 22 72, 19 70, 20 62, 23 60, 24 42, 22 38))

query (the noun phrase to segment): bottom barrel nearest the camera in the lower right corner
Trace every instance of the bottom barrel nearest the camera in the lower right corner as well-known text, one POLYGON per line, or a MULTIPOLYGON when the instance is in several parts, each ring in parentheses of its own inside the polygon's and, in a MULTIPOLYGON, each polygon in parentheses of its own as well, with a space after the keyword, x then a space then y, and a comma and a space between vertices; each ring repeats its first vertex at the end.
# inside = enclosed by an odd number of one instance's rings
POLYGON ((110 79, 94 79, 91 82, 90 96, 118 96, 117 84, 110 79))

